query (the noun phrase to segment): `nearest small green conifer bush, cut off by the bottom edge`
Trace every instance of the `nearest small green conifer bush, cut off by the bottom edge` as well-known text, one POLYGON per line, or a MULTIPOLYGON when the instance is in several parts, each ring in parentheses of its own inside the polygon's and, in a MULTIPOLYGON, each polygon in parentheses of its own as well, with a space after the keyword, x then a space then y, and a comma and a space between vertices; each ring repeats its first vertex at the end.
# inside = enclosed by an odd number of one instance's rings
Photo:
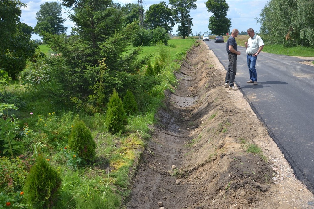
POLYGON ((31 167, 24 186, 26 200, 33 208, 51 208, 60 186, 59 173, 42 156, 31 167))

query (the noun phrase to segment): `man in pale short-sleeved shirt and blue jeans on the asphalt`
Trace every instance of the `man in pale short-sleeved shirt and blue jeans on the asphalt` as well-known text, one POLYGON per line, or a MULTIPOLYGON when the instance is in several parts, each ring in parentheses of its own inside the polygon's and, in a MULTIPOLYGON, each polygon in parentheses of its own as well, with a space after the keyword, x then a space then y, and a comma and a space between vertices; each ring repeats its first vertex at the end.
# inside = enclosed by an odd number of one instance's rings
POLYGON ((254 33, 252 28, 247 29, 247 34, 250 38, 244 43, 246 47, 246 60, 249 67, 250 81, 246 83, 253 83, 257 85, 256 60, 257 55, 263 50, 264 42, 262 38, 254 33))

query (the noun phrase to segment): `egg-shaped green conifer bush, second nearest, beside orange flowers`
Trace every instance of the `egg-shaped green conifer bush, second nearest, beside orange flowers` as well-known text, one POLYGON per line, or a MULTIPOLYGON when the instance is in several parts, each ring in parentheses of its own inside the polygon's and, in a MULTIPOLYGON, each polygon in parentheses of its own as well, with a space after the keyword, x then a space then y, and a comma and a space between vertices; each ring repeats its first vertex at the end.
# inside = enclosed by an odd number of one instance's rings
POLYGON ((92 133, 81 120, 76 121, 73 126, 69 138, 69 148, 84 161, 92 161, 95 158, 96 143, 92 133))

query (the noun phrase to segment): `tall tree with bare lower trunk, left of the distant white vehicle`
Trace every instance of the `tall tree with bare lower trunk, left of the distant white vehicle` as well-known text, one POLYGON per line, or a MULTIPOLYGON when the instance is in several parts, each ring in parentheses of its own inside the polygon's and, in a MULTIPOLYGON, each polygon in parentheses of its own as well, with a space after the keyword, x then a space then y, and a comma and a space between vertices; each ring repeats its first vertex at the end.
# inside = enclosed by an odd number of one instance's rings
POLYGON ((192 33, 193 18, 190 16, 190 10, 196 9, 195 3, 196 0, 169 0, 175 22, 179 24, 177 31, 179 35, 183 36, 183 39, 192 33))

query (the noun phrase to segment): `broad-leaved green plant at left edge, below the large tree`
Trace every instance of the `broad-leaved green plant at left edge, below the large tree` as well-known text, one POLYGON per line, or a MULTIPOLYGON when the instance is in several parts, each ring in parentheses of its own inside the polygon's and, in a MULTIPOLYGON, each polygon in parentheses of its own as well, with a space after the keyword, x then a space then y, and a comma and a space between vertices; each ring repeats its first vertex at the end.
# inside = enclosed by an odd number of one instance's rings
POLYGON ((19 152, 21 144, 17 139, 19 132, 19 120, 10 114, 10 110, 17 110, 13 104, 0 103, 0 153, 13 154, 19 152))

